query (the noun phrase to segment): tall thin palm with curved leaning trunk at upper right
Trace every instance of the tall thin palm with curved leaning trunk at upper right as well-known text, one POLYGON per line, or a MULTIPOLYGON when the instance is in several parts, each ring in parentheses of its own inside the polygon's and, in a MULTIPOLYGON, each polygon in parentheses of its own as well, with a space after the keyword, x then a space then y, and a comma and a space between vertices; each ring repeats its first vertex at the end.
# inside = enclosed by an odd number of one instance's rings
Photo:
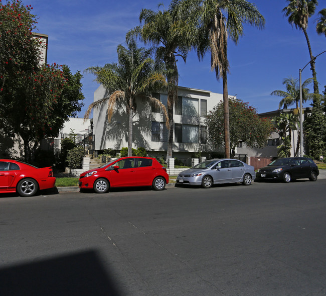
MULTIPOLYGON (((319 94, 318 82, 316 78, 316 67, 311 51, 310 41, 307 34, 308 19, 314 14, 317 0, 286 0, 289 2, 288 6, 283 9, 284 15, 288 17, 288 22, 296 29, 302 30, 307 41, 310 66, 313 77, 313 93, 319 94)), ((317 98, 316 98, 317 99, 317 98)))

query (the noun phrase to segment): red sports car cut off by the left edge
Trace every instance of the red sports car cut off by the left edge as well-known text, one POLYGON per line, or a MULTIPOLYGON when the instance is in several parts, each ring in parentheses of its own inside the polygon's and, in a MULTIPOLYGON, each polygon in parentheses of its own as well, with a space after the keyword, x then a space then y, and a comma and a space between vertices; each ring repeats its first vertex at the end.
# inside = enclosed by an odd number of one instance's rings
POLYGON ((32 196, 39 189, 53 188, 55 182, 52 167, 38 168, 18 160, 0 159, 0 192, 32 196))

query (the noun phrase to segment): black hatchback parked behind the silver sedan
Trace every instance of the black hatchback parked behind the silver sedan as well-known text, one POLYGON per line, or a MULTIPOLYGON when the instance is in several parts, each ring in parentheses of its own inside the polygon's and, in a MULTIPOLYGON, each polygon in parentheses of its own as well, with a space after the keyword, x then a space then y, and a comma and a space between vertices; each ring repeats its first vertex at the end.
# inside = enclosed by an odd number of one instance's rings
POLYGON ((307 157, 278 158, 256 172, 256 180, 279 179, 286 183, 291 180, 309 178, 316 181, 319 175, 317 165, 307 157))

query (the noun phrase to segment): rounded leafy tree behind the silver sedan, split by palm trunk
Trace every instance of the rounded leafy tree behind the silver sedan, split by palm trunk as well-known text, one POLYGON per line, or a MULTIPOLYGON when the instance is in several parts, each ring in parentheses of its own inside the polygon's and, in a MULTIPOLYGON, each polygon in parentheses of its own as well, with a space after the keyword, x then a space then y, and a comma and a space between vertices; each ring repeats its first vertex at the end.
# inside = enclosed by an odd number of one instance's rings
MULTIPOLYGON (((267 139, 274 131, 268 118, 260 118, 255 108, 235 98, 229 98, 230 108, 230 146, 231 157, 241 142, 249 147, 264 147, 267 139)), ((208 137, 215 146, 223 145, 224 141, 224 103, 213 108, 205 118, 208 137)))

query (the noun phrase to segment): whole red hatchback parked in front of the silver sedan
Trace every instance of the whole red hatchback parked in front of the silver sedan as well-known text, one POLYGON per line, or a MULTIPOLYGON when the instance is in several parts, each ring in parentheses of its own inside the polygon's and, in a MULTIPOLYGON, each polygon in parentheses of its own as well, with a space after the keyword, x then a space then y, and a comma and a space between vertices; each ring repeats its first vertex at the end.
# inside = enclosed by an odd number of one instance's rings
POLYGON ((97 193, 105 193, 110 187, 132 186, 163 190, 167 183, 167 169, 151 157, 122 157, 83 172, 79 177, 80 188, 93 188, 97 193))

